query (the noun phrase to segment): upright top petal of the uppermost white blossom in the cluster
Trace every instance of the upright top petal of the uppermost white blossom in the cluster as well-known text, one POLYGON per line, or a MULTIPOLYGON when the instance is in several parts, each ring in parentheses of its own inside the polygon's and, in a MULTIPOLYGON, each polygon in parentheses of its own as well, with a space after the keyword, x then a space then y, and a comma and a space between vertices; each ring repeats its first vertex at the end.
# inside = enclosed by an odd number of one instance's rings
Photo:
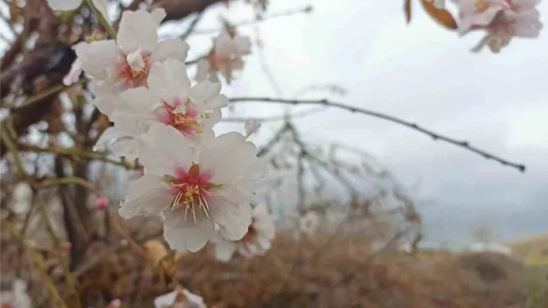
POLYGON ((145 10, 125 11, 116 42, 126 55, 139 47, 143 52, 151 53, 158 43, 158 21, 145 10))

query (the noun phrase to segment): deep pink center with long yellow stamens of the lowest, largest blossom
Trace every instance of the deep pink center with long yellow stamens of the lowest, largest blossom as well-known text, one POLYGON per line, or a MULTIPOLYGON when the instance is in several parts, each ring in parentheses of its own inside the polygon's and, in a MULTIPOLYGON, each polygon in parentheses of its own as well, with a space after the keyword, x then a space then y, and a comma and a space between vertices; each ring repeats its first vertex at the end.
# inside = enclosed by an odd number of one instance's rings
POLYGON ((169 194, 175 196, 171 209, 175 210, 184 207, 184 218, 190 210, 196 221, 196 210, 202 210, 208 218, 210 207, 208 199, 210 192, 221 185, 211 182, 211 172, 201 172, 199 164, 192 164, 188 170, 175 168, 175 177, 165 175, 164 180, 169 183, 169 194))

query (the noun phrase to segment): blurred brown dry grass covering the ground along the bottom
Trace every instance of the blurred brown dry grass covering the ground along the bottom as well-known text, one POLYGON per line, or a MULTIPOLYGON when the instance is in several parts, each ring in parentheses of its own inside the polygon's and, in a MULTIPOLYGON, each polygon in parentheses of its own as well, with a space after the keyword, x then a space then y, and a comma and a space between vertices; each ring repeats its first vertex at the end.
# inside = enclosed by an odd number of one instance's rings
MULTIPOLYGON (((208 246, 185 255, 176 267, 167 261, 158 268, 127 247, 105 253, 108 248, 98 245, 88 259, 105 257, 79 272, 78 290, 84 307, 101 308, 113 298, 121 298, 123 307, 152 307, 155 296, 169 292, 169 277, 216 308, 525 307, 525 270, 508 257, 425 251, 371 258, 367 245, 359 242, 318 235, 299 245, 279 233, 262 257, 223 264, 208 246)), ((31 290, 40 294, 43 288, 35 281, 31 290)))

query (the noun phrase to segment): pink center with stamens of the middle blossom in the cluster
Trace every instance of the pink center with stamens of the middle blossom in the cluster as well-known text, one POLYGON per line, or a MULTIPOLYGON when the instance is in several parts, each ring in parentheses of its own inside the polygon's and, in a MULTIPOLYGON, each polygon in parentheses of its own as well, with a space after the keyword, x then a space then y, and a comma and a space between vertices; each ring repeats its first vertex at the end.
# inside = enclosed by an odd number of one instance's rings
POLYGON ((198 108, 192 104, 190 99, 184 104, 180 99, 175 99, 173 105, 162 102, 162 107, 164 112, 158 116, 158 120, 165 125, 175 127, 186 136, 202 133, 201 120, 209 118, 208 112, 200 114, 198 108))

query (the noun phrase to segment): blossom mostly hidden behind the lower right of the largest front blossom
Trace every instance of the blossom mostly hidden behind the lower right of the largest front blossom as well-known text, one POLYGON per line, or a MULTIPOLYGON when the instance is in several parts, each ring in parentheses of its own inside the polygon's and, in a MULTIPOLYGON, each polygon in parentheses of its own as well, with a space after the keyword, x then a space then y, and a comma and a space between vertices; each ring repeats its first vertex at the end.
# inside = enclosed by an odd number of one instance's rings
POLYGON ((232 242, 225 240, 221 235, 213 238, 215 243, 215 257, 219 261, 229 261, 235 251, 243 257, 263 255, 271 248, 275 235, 275 227, 266 205, 260 204, 253 209, 251 225, 242 240, 232 242))

